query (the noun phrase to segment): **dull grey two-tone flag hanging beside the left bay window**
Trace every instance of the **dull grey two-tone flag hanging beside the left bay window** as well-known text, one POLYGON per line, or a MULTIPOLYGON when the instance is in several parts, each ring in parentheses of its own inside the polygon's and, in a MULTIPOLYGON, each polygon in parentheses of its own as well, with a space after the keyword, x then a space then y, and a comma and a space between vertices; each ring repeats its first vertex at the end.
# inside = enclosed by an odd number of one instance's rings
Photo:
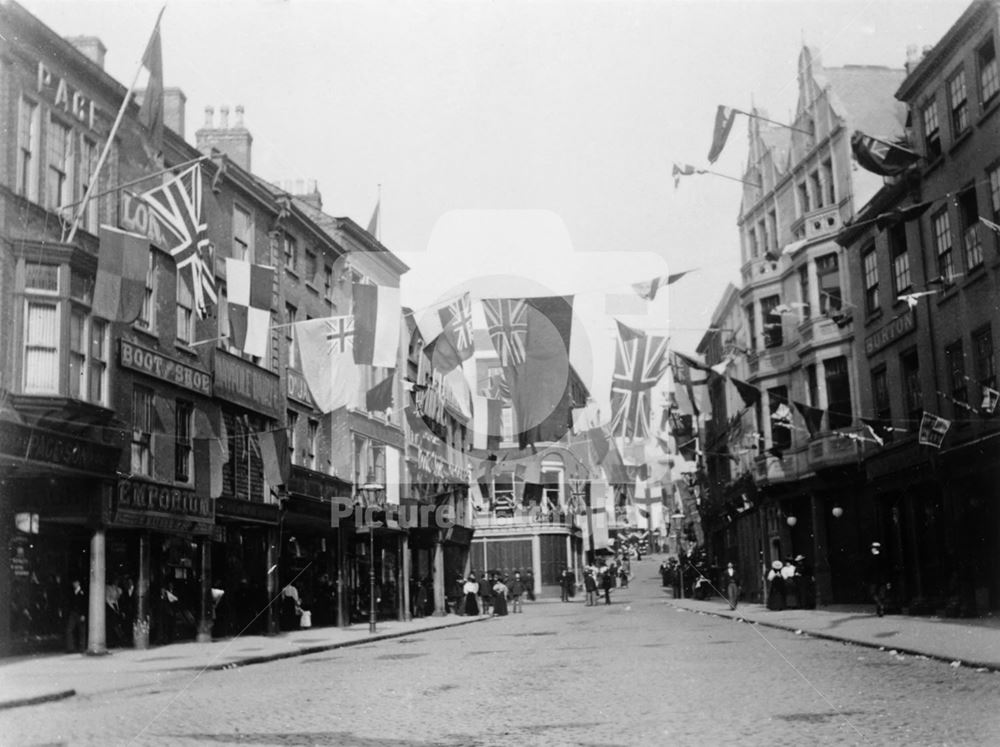
POLYGON ((142 313, 149 266, 149 237, 100 227, 94 316, 131 324, 142 313))

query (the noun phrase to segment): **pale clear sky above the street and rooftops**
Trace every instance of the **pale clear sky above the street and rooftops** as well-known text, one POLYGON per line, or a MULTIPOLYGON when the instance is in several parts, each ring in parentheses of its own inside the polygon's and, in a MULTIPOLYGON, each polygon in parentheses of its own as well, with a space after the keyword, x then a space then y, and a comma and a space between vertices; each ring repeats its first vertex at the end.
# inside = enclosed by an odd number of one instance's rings
MULTIPOLYGON (((135 74, 162 2, 21 0, 65 36, 96 35, 135 74)), ((637 326, 694 351, 738 279, 741 185, 707 166, 719 104, 788 121, 803 42, 826 65, 902 67, 967 0, 319 2, 170 0, 164 78, 242 104, 253 170, 316 179, 324 209, 367 225, 411 266, 414 308, 478 287, 627 292, 695 269, 637 326), (501 276, 503 279, 501 279, 501 276)), ((872 133, 877 134, 877 133, 872 133)), ((738 176, 746 118, 712 167, 738 176)))

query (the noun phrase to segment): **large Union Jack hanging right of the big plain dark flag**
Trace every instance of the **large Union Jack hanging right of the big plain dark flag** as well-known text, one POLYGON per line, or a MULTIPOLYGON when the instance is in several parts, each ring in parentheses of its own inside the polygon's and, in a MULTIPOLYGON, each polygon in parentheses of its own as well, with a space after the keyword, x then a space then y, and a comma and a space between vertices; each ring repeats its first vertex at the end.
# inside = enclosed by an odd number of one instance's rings
POLYGON ((618 322, 611 379, 611 435, 650 436, 652 390, 667 370, 668 338, 647 335, 618 322))

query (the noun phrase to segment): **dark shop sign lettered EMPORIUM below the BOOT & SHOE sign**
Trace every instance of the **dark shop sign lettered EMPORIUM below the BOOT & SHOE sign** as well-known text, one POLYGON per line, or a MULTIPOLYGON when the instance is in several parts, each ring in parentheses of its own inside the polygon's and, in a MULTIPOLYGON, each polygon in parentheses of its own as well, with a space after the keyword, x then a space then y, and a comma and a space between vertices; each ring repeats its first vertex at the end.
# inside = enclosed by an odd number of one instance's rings
POLYGON ((215 503, 193 490, 131 478, 118 483, 113 523, 165 532, 211 534, 215 503))

